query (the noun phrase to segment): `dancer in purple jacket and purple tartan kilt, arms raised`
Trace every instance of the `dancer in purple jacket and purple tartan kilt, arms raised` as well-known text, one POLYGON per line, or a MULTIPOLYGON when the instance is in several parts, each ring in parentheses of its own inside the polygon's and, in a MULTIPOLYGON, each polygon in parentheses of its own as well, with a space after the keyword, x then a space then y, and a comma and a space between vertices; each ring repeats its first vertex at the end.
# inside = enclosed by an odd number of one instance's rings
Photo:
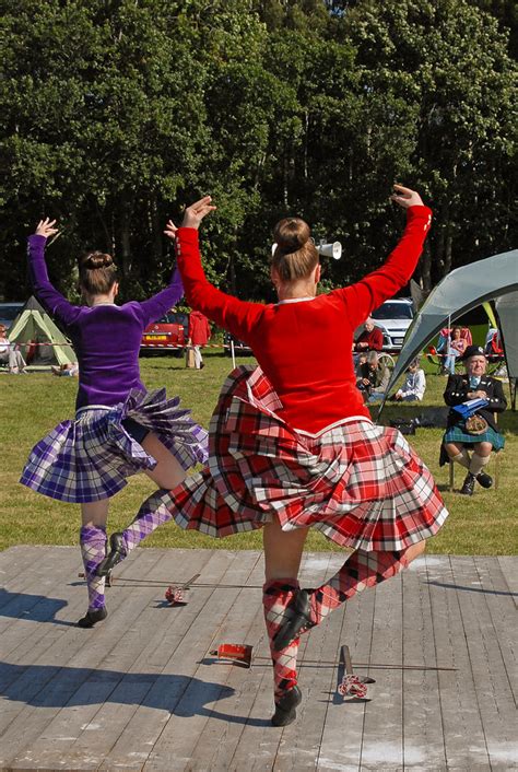
MULTIPOLYGON (((52 499, 81 504, 89 608, 78 623, 91 628, 107 616, 109 499, 140 471, 160 488, 175 488, 187 469, 207 459, 207 432, 179 408, 178 398, 166 399, 165 389, 148 394, 140 379, 142 331, 183 297, 178 271, 169 286, 150 300, 118 306, 116 266, 109 255, 94 252, 80 261, 85 305, 72 305, 47 276, 45 245, 58 232, 55 223, 40 221, 28 237, 28 265, 34 294, 70 336, 78 356, 76 414, 33 448, 21 482, 52 499)), ((137 517, 122 534, 111 535, 111 551, 121 559, 161 522, 160 514, 137 517)))

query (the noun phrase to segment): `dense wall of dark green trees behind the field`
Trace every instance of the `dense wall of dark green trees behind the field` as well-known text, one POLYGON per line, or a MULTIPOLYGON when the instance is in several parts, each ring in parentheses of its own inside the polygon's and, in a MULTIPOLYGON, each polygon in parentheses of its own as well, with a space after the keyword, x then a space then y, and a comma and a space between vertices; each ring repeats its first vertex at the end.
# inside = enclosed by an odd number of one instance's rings
POLYGON ((170 273, 167 218, 210 192, 209 276, 269 299, 271 230, 308 220, 357 279, 395 244, 393 182, 435 227, 425 291, 517 242, 517 16, 496 0, 3 0, 0 294, 28 294, 27 233, 60 238, 72 293, 81 252, 110 252, 122 293, 170 273))

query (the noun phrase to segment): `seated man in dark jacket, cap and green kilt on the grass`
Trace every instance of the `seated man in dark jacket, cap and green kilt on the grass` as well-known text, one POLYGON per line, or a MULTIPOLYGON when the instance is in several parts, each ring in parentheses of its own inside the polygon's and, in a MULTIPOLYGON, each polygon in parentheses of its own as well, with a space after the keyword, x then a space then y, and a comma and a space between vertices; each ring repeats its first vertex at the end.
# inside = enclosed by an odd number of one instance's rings
POLYGON ((446 405, 454 408, 470 399, 485 399, 488 405, 464 419, 456 410, 450 410, 448 425, 440 449, 440 465, 448 460, 457 461, 468 469, 468 475, 460 489, 464 495, 472 495, 475 480, 483 488, 491 488, 493 478, 483 471, 490 463, 491 452, 504 447, 504 437, 499 433, 494 413, 503 412, 507 407, 502 383, 485 374, 487 360, 484 349, 469 346, 462 356, 464 375, 450 375, 444 394, 446 405), (469 449, 473 453, 470 458, 469 449))

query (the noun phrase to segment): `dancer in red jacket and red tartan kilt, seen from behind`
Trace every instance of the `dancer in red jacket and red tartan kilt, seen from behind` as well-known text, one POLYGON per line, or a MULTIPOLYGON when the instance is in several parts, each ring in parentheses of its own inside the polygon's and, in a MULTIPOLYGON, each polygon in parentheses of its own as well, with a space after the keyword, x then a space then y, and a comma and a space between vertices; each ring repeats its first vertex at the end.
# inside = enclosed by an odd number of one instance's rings
MULTIPOLYGON (((144 504, 181 527, 228 536, 263 527, 263 606, 274 671, 274 725, 295 718, 298 635, 355 593, 382 582, 424 550, 447 516, 428 469, 396 430, 372 422, 356 388, 353 332, 412 276, 431 223, 420 196, 396 186, 408 210, 387 262, 362 281, 317 296, 318 253, 298 218, 275 227, 276 304, 245 303, 207 280, 198 226, 210 197, 177 232, 185 293, 250 346, 259 367, 227 378, 210 425, 209 466, 144 504), (326 585, 299 589, 307 528, 355 551, 326 585)), ((169 230, 174 232, 173 223, 169 230)))

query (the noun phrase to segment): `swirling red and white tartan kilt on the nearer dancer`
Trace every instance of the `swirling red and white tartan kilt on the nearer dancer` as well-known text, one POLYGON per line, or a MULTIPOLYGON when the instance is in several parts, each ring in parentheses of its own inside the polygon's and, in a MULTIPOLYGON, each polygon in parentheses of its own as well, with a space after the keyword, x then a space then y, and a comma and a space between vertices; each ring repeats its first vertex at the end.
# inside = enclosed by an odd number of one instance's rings
POLYGON ((152 508, 183 528, 224 537, 311 526, 342 547, 402 550, 437 533, 448 513, 429 470, 396 429, 358 417, 318 436, 296 431, 259 367, 225 382, 209 434, 209 465, 152 508))

